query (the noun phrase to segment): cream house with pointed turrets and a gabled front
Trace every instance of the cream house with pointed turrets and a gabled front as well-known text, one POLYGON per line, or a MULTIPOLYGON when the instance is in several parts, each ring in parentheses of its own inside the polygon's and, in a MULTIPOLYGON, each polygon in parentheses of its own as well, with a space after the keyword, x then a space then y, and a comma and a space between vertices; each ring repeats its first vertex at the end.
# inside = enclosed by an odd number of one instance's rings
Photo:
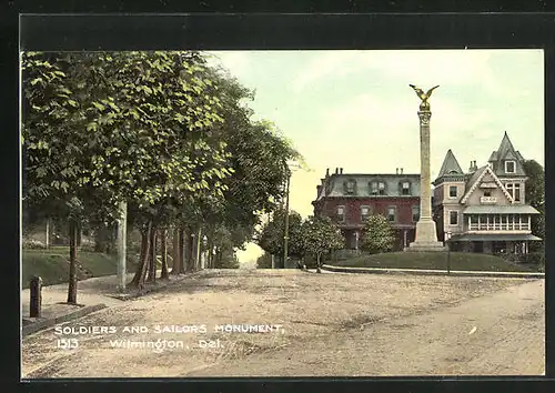
POLYGON ((434 181, 434 211, 441 240, 452 250, 526 253, 541 240, 531 231, 537 210, 526 204, 524 159, 505 132, 500 148, 481 168, 471 162, 464 173, 447 151, 434 181))

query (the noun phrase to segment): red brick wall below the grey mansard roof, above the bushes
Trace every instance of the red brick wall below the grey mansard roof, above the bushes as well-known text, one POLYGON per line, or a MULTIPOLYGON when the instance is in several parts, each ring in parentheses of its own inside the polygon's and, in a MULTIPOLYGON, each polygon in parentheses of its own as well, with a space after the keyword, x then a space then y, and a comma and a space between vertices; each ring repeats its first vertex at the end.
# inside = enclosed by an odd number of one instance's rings
POLYGON ((386 214, 389 206, 396 206, 397 221, 395 224, 412 225, 413 224, 413 206, 420 204, 420 198, 372 198, 372 199, 353 199, 353 198, 333 198, 321 201, 316 211, 321 211, 324 215, 335 218, 337 206, 345 206, 345 224, 362 224, 361 206, 370 206, 374 214, 386 214))

